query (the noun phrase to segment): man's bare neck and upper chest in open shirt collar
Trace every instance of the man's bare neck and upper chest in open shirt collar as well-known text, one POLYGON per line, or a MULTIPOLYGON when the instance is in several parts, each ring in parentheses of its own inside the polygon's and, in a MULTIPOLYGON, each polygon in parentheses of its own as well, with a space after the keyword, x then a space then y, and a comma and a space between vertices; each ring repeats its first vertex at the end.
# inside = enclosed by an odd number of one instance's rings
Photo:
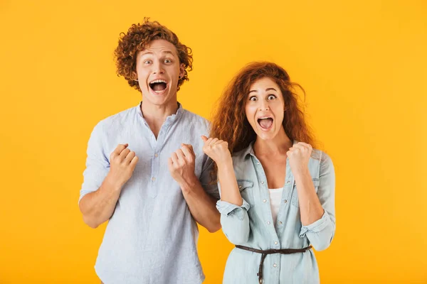
POLYGON ((176 99, 172 99, 170 102, 167 102, 167 104, 162 105, 151 104, 148 100, 141 104, 142 115, 156 139, 167 116, 176 114, 177 110, 178 102, 176 99))

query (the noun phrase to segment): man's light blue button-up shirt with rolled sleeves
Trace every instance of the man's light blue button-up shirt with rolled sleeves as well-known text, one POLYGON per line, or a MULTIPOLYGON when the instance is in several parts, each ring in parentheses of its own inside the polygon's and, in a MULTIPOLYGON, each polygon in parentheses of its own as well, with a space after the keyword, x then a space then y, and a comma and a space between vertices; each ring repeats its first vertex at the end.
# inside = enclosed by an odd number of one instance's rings
POLYGON ((122 187, 98 252, 95 271, 103 283, 203 282, 197 225, 167 166, 181 143, 191 144, 196 176, 206 192, 219 199, 218 187, 209 185, 212 162, 202 151, 201 135, 209 135, 208 121, 180 104, 157 139, 140 105, 100 121, 93 129, 79 201, 100 187, 110 170, 110 153, 118 144, 128 143, 139 158, 132 178, 122 187))

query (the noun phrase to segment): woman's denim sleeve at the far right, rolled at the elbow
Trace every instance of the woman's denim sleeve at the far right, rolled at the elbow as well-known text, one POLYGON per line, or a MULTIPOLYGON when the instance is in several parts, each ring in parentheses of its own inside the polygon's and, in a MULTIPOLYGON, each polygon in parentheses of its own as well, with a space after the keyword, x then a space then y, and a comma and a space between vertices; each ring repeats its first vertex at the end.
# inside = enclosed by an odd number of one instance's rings
POLYGON ((319 180, 317 197, 324 213, 319 220, 302 226, 300 237, 307 236, 312 246, 322 251, 330 246, 335 233, 335 173, 332 160, 325 153, 320 160, 319 180))

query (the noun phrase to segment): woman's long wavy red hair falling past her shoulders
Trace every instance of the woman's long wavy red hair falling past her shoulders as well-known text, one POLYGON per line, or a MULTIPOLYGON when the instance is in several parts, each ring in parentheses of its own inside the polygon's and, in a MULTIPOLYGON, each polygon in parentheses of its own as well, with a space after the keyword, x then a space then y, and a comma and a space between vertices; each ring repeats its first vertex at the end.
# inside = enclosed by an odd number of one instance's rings
POLYGON ((218 101, 210 137, 227 141, 231 155, 255 141, 256 133, 246 118, 245 107, 251 85, 263 77, 269 77, 278 84, 283 94, 286 109, 283 128, 286 135, 291 140, 310 143, 314 148, 312 131, 305 121, 304 109, 295 92, 299 88, 305 95, 304 89, 291 82, 288 72, 282 67, 271 62, 252 62, 231 80, 218 101))

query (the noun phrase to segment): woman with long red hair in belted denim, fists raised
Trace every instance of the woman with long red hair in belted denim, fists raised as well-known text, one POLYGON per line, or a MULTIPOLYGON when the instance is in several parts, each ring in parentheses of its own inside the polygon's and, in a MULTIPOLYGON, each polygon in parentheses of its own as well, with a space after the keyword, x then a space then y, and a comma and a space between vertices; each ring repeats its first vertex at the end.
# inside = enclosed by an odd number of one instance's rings
POLYGON ((248 65, 203 137, 223 232, 236 245, 223 283, 320 282, 312 247, 327 249, 334 236, 334 167, 311 146, 295 86, 278 65, 248 65))

